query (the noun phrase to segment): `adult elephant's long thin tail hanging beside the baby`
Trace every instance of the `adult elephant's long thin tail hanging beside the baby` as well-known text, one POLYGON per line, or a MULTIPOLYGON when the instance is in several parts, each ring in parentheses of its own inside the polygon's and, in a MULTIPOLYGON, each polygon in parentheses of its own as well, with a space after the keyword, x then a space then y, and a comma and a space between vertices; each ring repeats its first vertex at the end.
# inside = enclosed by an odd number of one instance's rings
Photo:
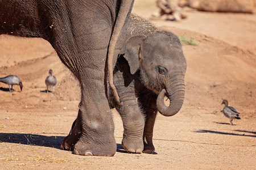
POLYGON ((115 25, 113 29, 113 33, 109 42, 109 52, 108 52, 108 75, 109 75, 109 86, 113 92, 114 98, 119 105, 122 105, 122 102, 119 99, 117 94, 117 90, 115 89, 113 83, 113 57, 114 57, 114 49, 117 44, 118 37, 122 31, 123 25, 125 24, 125 20, 127 15, 129 15, 130 10, 133 6, 134 0, 125 0, 121 2, 119 12, 117 15, 117 19, 115 20, 115 25))

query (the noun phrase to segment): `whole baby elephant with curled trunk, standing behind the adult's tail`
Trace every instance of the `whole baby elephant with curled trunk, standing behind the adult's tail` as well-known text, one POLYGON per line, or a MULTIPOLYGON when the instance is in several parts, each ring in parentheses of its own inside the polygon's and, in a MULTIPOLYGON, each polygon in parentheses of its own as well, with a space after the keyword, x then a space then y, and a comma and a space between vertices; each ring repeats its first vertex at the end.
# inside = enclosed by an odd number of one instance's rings
POLYGON ((112 104, 123 120, 123 147, 131 152, 153 153, 156 113, 173 116, 179 112, 187 63, 177 36, 133 14, 126 41, 114 70, 114 85, 123 105, 112 104), (164 96, 170 99, 168 107, 164 96))

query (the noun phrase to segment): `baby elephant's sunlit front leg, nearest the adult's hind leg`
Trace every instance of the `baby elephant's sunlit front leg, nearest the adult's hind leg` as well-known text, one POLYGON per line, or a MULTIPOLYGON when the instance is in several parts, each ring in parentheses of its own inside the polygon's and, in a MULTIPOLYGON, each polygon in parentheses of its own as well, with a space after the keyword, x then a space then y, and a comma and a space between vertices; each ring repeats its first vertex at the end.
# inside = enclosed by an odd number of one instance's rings
POLYGON ((118 73, 114 75, 114 84, 123 101, 122 107, 116 107, 123 121, 122 146, 129 152, 141 153, 143 151, 144 118, 136 101, 134 83, 131 82, 125 86, 122 73, 119 72, 118 80, 117 76, 118 73))

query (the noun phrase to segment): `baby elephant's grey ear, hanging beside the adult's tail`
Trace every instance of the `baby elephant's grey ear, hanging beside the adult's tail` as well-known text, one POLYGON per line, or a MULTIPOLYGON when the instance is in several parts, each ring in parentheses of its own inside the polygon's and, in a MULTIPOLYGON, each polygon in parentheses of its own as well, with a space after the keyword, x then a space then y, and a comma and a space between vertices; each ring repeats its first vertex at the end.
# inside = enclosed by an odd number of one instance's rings
POLYGON ((144 39, 146 39, 144 35, 130 37, 121 49, 121 54, 124 54, 123 56, 129 63, 131 74, 139 69, 139 47, 144 39))

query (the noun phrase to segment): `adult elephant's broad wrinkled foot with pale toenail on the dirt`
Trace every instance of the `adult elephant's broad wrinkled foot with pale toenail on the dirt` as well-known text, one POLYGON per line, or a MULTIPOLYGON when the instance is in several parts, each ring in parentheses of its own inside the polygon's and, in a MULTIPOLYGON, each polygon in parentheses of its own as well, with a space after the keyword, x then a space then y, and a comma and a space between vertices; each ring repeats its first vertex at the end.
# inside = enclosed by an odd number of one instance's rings
POLYGON ((101 138, 100 141, 97 138, 90 140, 85 139, 84 137, 81 137, 76 143, 74 147, 74 154, 85 156, 113 156, 117 150, 114 135, 111 138, 101 138))

